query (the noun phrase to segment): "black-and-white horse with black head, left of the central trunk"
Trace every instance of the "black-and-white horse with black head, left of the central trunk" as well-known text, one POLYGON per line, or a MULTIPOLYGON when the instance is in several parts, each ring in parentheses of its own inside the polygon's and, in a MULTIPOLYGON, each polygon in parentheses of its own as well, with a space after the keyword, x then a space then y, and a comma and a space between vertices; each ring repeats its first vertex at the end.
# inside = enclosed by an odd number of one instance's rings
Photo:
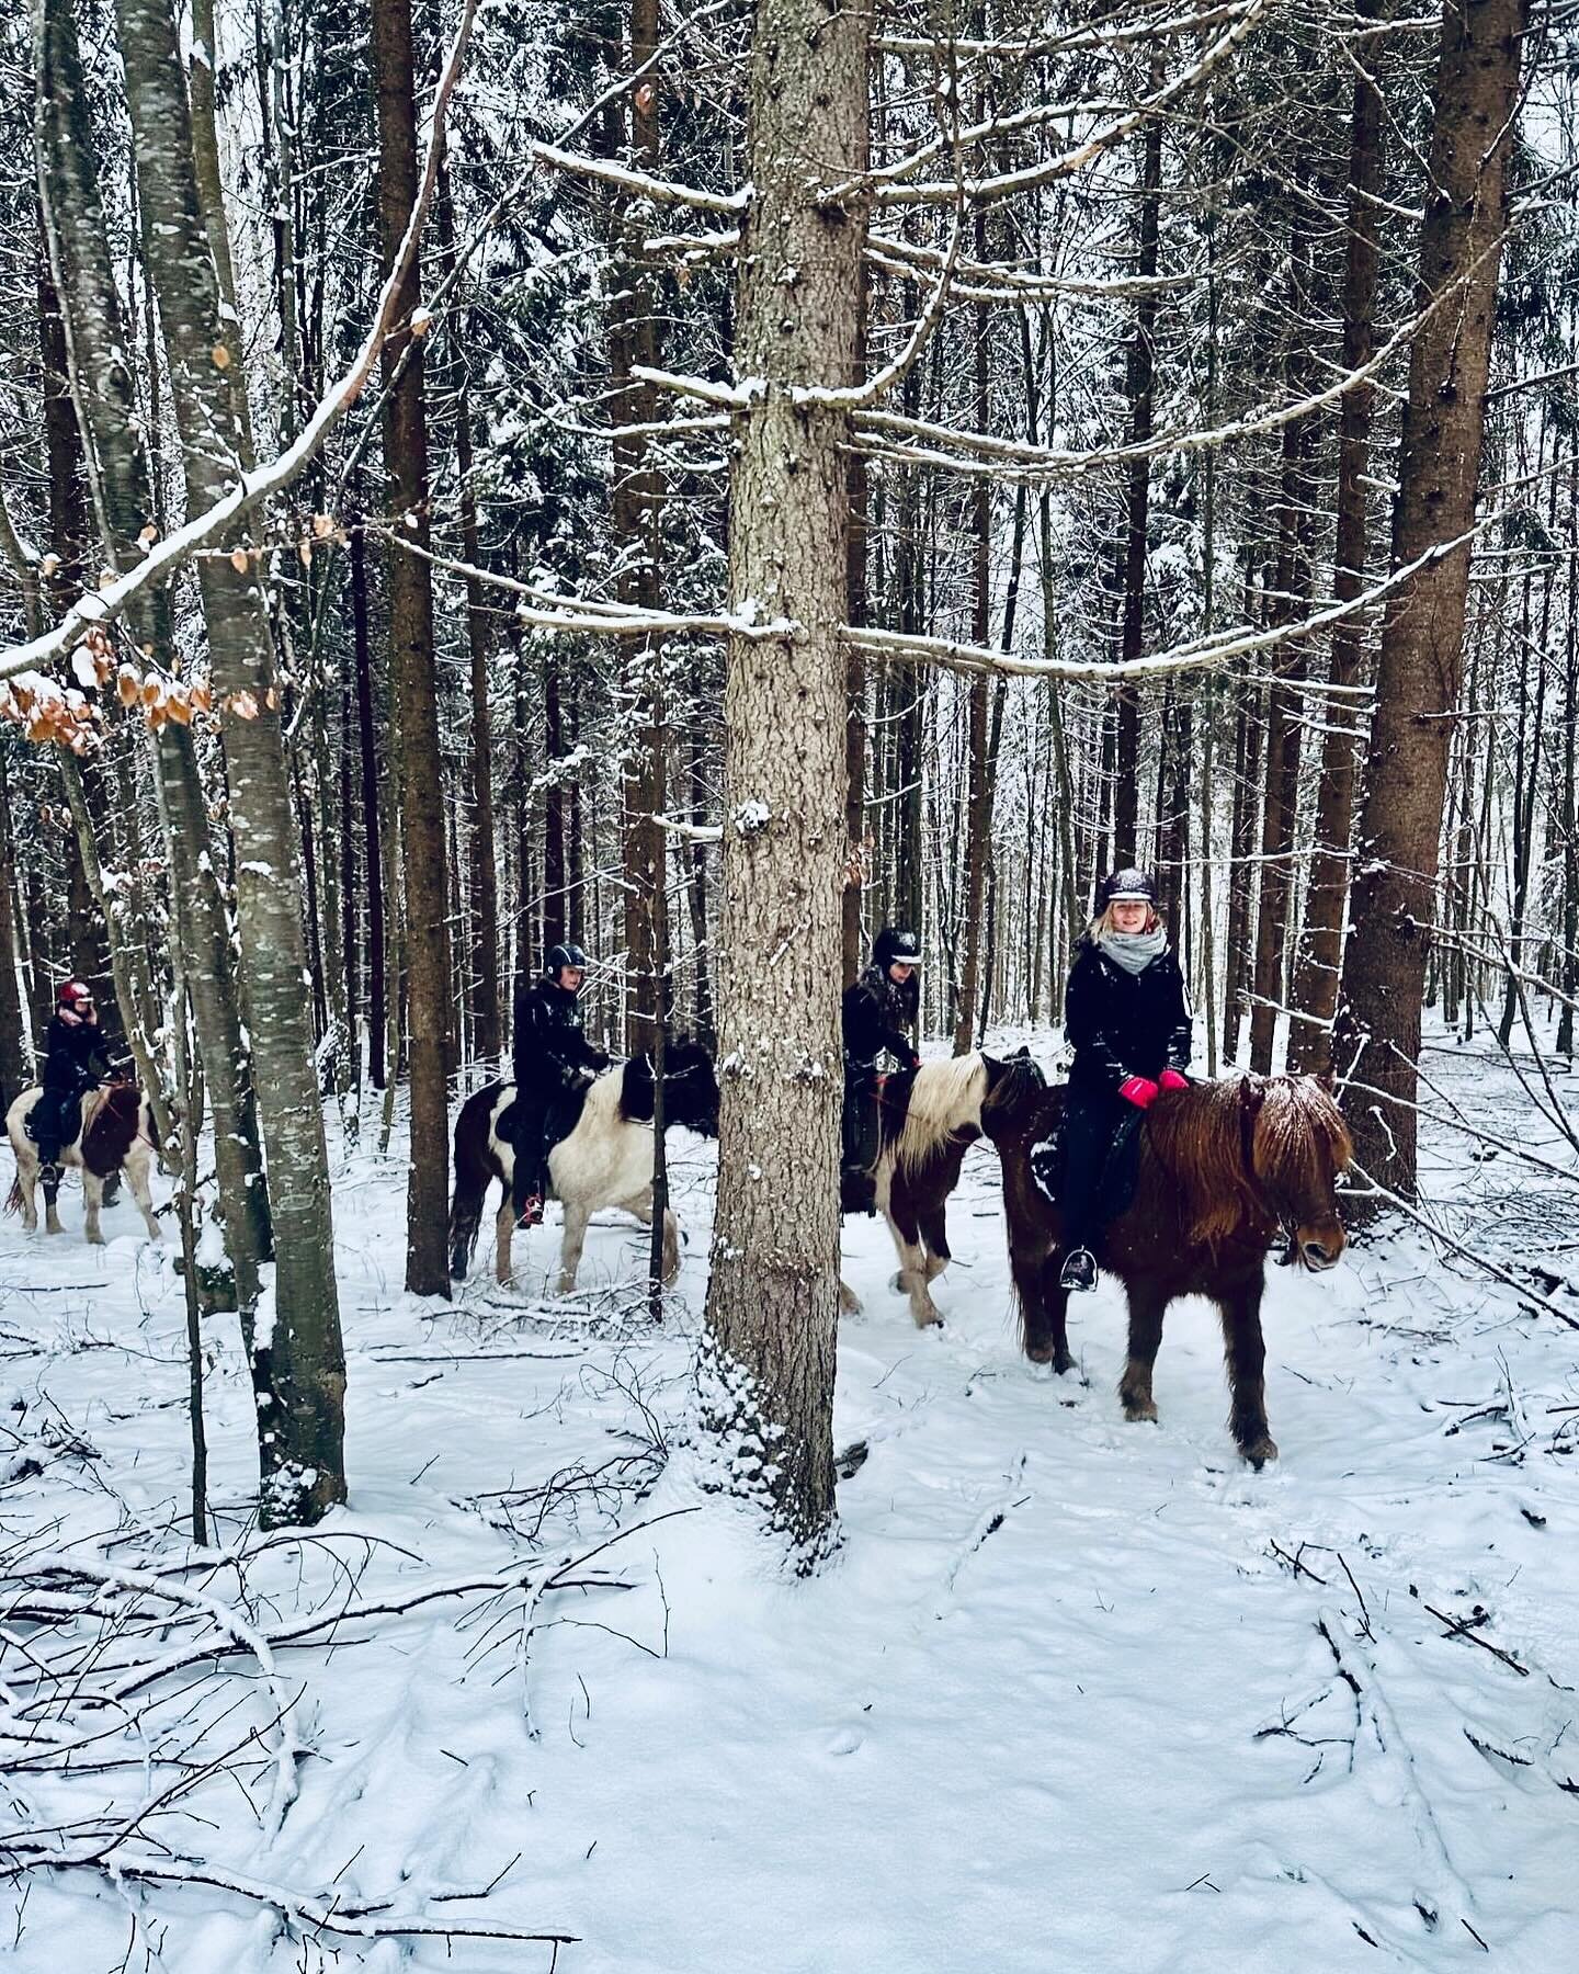
MULTIPOLYGON (((499 1137, 499 1121, 513 1101, 515 1084, 488 1084, 462 1103, 456 1117, 456 1190, 450 1202, 450 1273, 456 1279, 472 1265, 484 1200, 497 1178, 503 1200, 493 1224, 493 1273, 509 1281, 515 1149, 499 1137)), ((665 1052, 663 1121, 709 1137, 718 1133, 718 1082, 713 1058, 697 1042, 671 1042, 665 1052)), ((588 1086, 576 1127, 549 1153, 549 1180, 553 1196, 564 1202, 559 1293, 568 1295, 576 1285, 586 1222, 600 1206, 622 1206, 643 1226, 653 1222, 653 1066, 647 1056, 616 1064, 588 1086)), ((663 1279, 673 1281, 677 1273, 679 1226, 665 1212, 663 1279)))

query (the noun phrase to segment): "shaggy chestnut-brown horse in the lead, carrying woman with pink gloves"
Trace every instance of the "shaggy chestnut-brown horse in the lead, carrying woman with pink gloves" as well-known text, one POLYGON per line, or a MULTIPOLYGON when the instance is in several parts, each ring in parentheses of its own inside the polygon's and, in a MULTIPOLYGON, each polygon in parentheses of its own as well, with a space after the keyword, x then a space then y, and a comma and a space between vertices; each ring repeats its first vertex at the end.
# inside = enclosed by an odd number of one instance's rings
MULTIPOLYGON (((1062 1119, 1064 1092, 1016 1070, 983 1117, 1003 1161, 1009 1261, 1026 1356, 1070 1368, 1068 1291, 1058 1287, 1062 1220, 1030 1175, 1030 1151, 1062 1119)), ((1344 1252, 1336 1177, 1350 1143, 1338 1105, 1315 1076, 1243 1076, 1165 1092, 1145 1113, 1131 1202, 1095 1255, 1129 1297, 1127 1419, 1155 1419, 1151 1370, 1163 1315, 1180 1295, 1218 1305, 1232 1392, 1230 1427, 1253 1465, 1277 1459, 1267 1431, 1261 1295, 1279 1228, 1285 1263, 1313 1273, 1344 1252)))

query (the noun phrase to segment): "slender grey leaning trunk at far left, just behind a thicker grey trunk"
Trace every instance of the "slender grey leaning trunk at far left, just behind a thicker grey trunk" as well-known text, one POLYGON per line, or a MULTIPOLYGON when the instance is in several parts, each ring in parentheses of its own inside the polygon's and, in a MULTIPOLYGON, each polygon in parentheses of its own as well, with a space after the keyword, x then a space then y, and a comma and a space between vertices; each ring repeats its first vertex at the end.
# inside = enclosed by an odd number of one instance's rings
MULTIPOLYGON (((154 492, 142 420, 124 351, 120 298, 111 265, 95 150, 87 122, 77 24, 69 0, 43 0, 36 51, 38 154, 49 255, 67 324, 75 403, 91 462, 93 505, 105 557, 130 569, 152 521, 154 492)), ((174 647, 170 602, 154 592, 134 606, 138 647, 174 647)), ((237 1309, 251 1346, 259 1267, 270 1253, 253 1060, 241 1028, 231 924, 215 882, 207 797, 189 728, 168 721, 154 736, 160 815, 170 855, 176 936, 186 955, 203 1082, 213 1109, 219 1218, 235 1271, 237 1309)))

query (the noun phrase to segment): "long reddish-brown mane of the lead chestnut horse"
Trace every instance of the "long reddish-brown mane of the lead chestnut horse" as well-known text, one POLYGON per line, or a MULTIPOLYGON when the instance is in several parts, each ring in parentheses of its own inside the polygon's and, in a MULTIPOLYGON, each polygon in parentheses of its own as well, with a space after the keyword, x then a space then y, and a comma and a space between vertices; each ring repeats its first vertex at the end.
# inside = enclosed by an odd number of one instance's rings
POLYGON ((1190 1240, 1204 1246, 1247 1222, 1277 1222, 1277 1202, 1315 1184, 1322 1163, 1348 1165, 1342 1113, 1313 1076, 1269 1076, 1257 1096, 1247 1111, 1245 1078, 1192 1084, 1147 1113, 1147 1141, 1184 1192, 1190 1240))

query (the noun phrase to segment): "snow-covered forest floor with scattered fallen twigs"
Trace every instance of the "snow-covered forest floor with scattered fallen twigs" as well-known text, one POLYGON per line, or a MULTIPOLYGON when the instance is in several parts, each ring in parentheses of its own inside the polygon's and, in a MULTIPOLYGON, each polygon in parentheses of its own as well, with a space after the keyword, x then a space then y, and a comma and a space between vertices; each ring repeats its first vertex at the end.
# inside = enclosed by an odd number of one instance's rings
MULTIPOLYGON (((1567 1163, 1488 1054, 1439 1034, 1427 1060, 1567 1163)), ((1465 1145, 1427 1147, 1451 1226, 1579 1317, 1573 1184, 1465 1145)), ((543 1289, 553 1224, 515 1295, 480 1252, 452 1305, 409 1301, 401 1159, 341 1151, 351 1504, 310 1542, 251 1534, 215 1319, 227 1556, 182 1540, 174 1246, 130 1204, 81 1246, 75 1190, 59 1242, 0 1226, 0 1863, 20 1832, 83 1860, 0 1883, 18 1974, 1571 1964, 1579 1332, 1407 1228, 1271 1269, 1283 1457, 1253 1475, 1204 1305, 1168 1317, 1157 1427, 1119 1411, 1111 1283, 1074 1309, 1076 1374, 1020 1358, 977 1147, 941 1332, 890 1293, 882 1224, 847 1224, 837 1443, 868 1457, 841 1554, 786 1581, 687 1445, 713 1149, 673 1151, 689 1246, 657 1329, 618 1216, 570 1301, 543 1289), (120 1577, 73 1589, 43 1552, 120 1577), (574 1940, 355 1931, 413 1921, 574 1940)))

